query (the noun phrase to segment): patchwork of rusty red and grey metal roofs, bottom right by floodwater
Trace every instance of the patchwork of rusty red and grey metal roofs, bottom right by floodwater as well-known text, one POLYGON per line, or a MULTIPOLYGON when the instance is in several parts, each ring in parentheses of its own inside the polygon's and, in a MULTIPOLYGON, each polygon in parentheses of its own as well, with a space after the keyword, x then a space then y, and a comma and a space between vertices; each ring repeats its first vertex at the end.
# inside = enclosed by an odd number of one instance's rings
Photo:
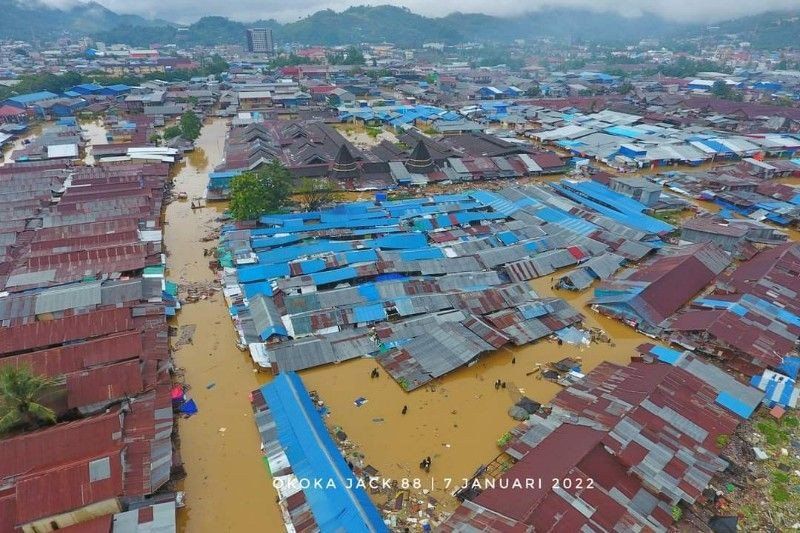
POLYGON ((717 438, 762 398, 685 353, 601 363, 510 432, 505 453, 516 462, 474 478, 480 488, 439 530, 667 531, 673 506, 703 501, 729 466, 717 438))

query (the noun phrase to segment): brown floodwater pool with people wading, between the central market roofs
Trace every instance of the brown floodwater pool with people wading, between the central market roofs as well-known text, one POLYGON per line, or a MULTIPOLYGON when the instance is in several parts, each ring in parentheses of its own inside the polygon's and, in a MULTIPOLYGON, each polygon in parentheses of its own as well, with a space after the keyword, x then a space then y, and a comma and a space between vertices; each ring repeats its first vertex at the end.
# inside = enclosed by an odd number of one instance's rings
POLYGON ((303 380, 331 408, 329 424, 342 427, 366 455, 365 464, 377 468, 383 477, 420 478, 423 486, 434 489, 439 509, 451 509, 456 502, 449 495, 452 487, 445 489, 447 478, 460 482, 498 455, 497 439, 517 424, 507 411, 520 395, 545 403, 561 389, 537 379, 536 374, 526 375, 537 363, 579 357, 583 370, 588 371, 602 361, 625 363, 636 346, 650 341, 583 307, 591 290, 553 291, 549 278, 534 280, 531 285, 542 296, 556 295, 569 301, 586 315, 587 327, 604 329, 615 346, 578 348, 545 340, 501 349, 437 380, 433 387, 411 393, 404 392, 382 370, 379 379, 370 379, 370 371, 378 366, 371 359, 310 369, 301 373, 303 380), (506 389, 494 388, 498 379, 506 382, 506 389), (368 401, 356 407, 353 401, 359 396, 368 401), (406 415, 402 414, 404 405, 408 406, 406 415), (427 456, 433 460, 430 474, 419 469, 427 456))

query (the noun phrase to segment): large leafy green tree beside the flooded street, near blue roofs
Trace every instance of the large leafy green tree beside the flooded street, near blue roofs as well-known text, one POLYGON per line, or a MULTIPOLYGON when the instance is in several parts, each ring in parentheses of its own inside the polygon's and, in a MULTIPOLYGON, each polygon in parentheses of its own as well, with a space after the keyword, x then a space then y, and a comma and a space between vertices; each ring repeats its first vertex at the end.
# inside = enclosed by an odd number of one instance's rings
POLYGON ((292 177, 273 159, 255 172, 245 172, 231 181, 230 212, 236 220, 253 220, 279 211, 290 203, 292 177))

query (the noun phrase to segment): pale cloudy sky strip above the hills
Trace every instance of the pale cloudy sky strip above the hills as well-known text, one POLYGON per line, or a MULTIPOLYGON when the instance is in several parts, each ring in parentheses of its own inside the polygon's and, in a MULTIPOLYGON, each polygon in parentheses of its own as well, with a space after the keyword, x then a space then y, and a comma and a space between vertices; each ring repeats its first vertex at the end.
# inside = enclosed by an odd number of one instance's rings
MULTIPOLYGON (((84 0, 43 0, 65 7, 84 0)), ((241 21, 275 18, 289 22, 320 9, 337 11, 352 5, 402 5, 416 13, 441 16, 453 11, 515 15, 547 7, 579 7, 616 11, 626 16, 654 13, 676 20, 715 22, 770 10, 798 8, 798 0, 97 0, 119 13, 160 17, 175 22, 193 22, 204 15, 223 15, 241 21)))

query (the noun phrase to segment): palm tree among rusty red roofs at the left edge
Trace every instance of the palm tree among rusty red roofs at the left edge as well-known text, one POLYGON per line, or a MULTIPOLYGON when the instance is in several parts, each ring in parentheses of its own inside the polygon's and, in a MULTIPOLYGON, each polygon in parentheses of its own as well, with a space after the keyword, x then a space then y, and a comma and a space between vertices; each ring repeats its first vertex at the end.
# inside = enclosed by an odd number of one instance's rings
POLYGON ((55 412, 40 403, 54 384, 26 366, 0 368, 0 432, 54 423, 55 412))

